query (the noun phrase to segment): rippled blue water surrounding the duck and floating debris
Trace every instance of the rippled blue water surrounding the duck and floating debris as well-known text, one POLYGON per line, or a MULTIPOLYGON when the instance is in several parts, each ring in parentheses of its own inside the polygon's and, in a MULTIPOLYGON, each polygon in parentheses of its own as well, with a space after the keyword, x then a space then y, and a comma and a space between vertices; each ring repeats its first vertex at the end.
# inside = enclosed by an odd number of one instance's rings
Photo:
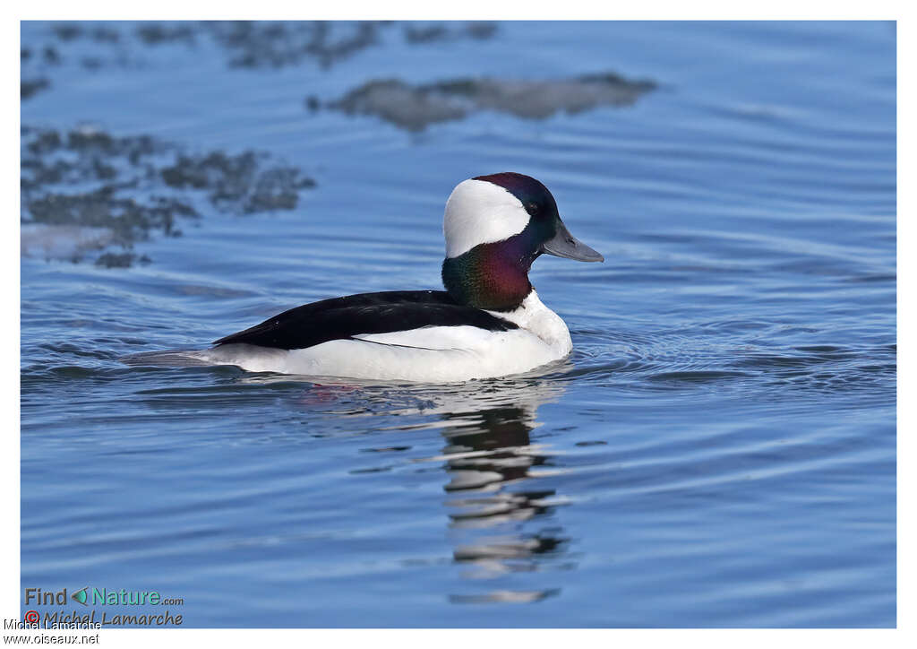
MULTIPOLYGON (((255 27, 22 26, 46 82, 23 125, 162 143, 24 195, 23 588, 157 590, 192 627, 896 624, 894 24, 336 25, 352 47, 321 55, 312 27, 255 27), (332 106, 372 80, 608 72, 655 87, 414 129, 332 106), (215 198, 245 174, 163 181, 249 150, 315 186, 247 210, 215 198), (565 364, 325 386, 117 360, 437 288, 449 191, 507 170, 605 256, 533 269, 565 364), (113 237, 108 195, 31 202, 122 181, 197 216, 113 237)), ((23 159, 50 164, 35 132, 23 159)))

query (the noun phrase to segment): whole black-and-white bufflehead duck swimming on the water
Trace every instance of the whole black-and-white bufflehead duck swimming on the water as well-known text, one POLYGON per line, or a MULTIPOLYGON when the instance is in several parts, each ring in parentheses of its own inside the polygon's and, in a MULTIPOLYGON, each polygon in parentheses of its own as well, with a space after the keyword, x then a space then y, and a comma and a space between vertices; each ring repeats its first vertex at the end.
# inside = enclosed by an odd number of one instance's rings
POLYGON ((387 291, 292 308, 186 356, 251 372, 422 382, 514 375, 558 361, 569 330, 528 270, 543 252, 602 262, 522 173, 459 183, 443 218, 445 291, 387 291))

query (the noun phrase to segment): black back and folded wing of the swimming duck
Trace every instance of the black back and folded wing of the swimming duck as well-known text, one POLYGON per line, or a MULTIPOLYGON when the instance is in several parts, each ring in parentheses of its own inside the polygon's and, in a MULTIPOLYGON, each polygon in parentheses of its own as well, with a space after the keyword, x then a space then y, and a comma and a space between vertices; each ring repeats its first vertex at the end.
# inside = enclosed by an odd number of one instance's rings
POLYGON ((518 329, 509 320, 458 304, 446 291, 386 291, 334 297, 291 308, 214 344, 245 342, 293 350, 348 340, 359 334, 458 325, 490 331, 518 329))

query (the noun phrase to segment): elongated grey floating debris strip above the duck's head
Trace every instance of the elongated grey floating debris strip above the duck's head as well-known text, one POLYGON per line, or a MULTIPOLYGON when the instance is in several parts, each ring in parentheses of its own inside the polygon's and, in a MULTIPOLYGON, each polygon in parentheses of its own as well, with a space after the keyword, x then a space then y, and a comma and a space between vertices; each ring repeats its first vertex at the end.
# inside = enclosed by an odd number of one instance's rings
POLYGON ((598 106, 631 106, 654 88, 652 81, 631 81, 615 73, 547 81, 484 77, 421 85, 386 79, 363 84, 327 107, 348 115, 375 115, 401 129, 419 131, 480 110, 543 119, 598 106))

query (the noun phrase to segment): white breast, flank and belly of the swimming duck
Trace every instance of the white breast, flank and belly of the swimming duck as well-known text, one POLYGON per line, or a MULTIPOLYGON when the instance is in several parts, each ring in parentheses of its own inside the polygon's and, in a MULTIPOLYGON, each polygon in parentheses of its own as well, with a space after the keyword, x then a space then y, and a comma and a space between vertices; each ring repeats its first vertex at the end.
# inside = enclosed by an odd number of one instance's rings
POLYGON ((535 291, 510 313, 494 312, 520 329, 488 331, 470 326, 424 327, 365 334, 301 350, 228 344, 201 354, 214 364, 249 372, 360 379, 452 382, 520 374, 558 361, 572 344, 564 321, 535 291))

